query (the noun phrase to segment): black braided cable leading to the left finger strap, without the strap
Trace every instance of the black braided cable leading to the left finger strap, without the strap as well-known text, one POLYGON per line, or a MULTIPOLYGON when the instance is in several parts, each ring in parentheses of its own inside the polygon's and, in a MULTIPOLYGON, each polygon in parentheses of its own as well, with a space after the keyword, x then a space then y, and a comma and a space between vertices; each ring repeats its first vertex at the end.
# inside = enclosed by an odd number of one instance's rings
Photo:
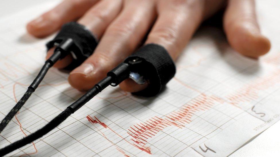
POLYGON ((15 106, 11 109, 11 111, 5 116, 5 118, 0 123, 0 133, 4 130, 4 128, 8 125, 11 119, 17 114, 17 112, 22 108, 22 106, 26 103, 32 93, 36 90, 39 84, 42 82, 43 78, 45 77, 48 69, 52 67, 52 65, 59 60, 61 56, 60 51, 56 51, 44 64, 40 72, 38 73, 37 77, 34 79, 32 84, 28 87, 25 94, 22 96, 20 101, 15 104, 15 106))

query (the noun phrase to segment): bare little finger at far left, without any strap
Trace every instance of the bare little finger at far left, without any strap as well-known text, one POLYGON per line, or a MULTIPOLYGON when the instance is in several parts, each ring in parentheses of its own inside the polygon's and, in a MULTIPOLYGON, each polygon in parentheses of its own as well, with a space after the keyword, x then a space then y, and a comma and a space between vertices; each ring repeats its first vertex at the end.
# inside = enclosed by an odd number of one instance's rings
POLYGON ((64 23, 81 17, 97 1, 65 0, 52 10, 29 22, 26 29, 35 37, 45 37, 57 31, 64 23))

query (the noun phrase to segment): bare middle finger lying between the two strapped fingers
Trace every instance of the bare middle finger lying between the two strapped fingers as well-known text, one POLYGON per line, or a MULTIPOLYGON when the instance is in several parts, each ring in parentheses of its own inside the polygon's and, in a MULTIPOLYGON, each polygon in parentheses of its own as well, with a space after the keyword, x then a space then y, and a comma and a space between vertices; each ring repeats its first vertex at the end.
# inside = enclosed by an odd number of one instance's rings
POLYGON ((151 2, 124 1, 124 9, 106 29, 93 55, 70 73, 68 80, 74 88, 92 88, 136 49, 155 19, 151 2))

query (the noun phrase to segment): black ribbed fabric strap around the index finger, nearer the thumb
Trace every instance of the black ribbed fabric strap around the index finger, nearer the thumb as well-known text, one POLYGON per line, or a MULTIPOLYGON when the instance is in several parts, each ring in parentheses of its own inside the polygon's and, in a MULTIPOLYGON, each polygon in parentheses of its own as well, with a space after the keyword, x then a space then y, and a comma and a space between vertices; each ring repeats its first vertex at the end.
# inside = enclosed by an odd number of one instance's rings
POLYGON ((175 64, 167 50, 158 44, 147 44, 140 47, 134 54, 125 59, 130 70, 140 73, 149 81, 149 86, 140 92, 139 96, 155 96, 176 73, 175 64))

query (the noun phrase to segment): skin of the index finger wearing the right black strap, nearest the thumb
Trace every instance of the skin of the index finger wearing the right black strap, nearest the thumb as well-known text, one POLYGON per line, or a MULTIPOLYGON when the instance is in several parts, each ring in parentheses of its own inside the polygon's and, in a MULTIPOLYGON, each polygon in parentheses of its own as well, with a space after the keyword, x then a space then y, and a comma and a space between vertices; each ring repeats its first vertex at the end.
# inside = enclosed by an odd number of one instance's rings
MULTIPOLYGON (((156 43, 162 45, 175 61, 204 16, 208 16, 204 12, 205 3, 198 0, 158 2, 159 17, 148 35, 146 44, 156 43)), ((216 5, 212 6, 213 9, 216 8, 216 5)), ((207 14, 210 13, 213 13, 213 11, 208 10, 207 14)), ((120 88, 127 92, 138 92, 146 87, 146 84, 139 85, 129 79, 120 84, 120 88)))

